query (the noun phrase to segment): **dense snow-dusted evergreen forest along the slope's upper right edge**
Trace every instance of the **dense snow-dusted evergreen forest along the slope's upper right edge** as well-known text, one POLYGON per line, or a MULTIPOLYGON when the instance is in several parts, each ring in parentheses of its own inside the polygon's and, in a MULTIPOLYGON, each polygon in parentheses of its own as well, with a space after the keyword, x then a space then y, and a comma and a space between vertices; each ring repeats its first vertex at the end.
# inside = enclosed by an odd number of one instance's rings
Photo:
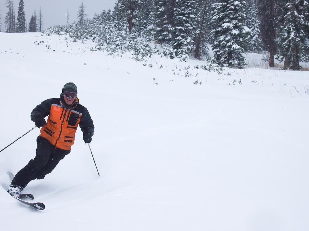
POLYGON ((97 49, 133 50, 137 58, 151 54, 148 43, 155 41, 170 58, 193 56, 221 66, 244 66, 244 53, 262 51, 269 52, 270 67, 275 58, 292 70, 309 61, 305 0, 118 0, 113 11, 86 21, 84 8, 82 4, 78 23, 47 33, 82 39, 94 35, 97 49))

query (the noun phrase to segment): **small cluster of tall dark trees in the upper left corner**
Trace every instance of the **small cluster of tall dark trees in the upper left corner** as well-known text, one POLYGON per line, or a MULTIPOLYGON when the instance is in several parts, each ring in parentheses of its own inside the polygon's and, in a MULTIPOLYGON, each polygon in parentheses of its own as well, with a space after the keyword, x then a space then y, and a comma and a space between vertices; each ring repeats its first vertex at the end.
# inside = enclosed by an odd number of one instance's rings
POLYGON ((15 32, 42 32, 43 31, 43 15, 40 7, 39 14, 36 14, 36 10, 31 16, 28 28, 25 19, 25 10, 23 0, 19 1, 17 19, 15 14, 15 3, 14 1, 7 0, 5 3, 7 13, 4 18, 4 30, 3 25, 1 25, 1 12, 0 12, 0 28, 2 27, 2 32, 15 33, 15 32), (28 31, 27 31, 28 29, 28 31))

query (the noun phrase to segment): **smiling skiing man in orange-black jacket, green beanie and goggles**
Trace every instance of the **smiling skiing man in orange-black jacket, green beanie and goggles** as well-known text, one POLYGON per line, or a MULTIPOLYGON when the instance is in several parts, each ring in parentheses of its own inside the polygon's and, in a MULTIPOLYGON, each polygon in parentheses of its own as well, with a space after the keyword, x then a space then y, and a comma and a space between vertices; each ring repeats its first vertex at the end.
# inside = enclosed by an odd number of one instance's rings
POLYGON ((91 142, 94 133, 93 121, 87 108, 79 104, 74 83, 64 85, 60 98, 47 99, 37 105, 31 120, 38 128, 42 127, 36 138, 36 156, 12 180, 7 191, 14 197, 20 197, 31 180, 44 179, 70 153, 77 125, 85 143, 91 142), (46 122, 44 117, 48 115, 46 122))

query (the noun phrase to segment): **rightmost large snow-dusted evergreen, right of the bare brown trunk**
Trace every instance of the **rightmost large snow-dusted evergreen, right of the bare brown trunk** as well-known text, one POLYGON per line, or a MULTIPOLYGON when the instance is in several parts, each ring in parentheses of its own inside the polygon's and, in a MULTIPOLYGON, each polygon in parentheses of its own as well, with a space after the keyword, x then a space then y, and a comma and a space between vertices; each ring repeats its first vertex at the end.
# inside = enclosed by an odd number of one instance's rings
POLYGON ((279 46, 284 69, 300 70, 299 62, 304 58, 306 35, 304 0, 286 0, 284 25, 280 28, 279 46))

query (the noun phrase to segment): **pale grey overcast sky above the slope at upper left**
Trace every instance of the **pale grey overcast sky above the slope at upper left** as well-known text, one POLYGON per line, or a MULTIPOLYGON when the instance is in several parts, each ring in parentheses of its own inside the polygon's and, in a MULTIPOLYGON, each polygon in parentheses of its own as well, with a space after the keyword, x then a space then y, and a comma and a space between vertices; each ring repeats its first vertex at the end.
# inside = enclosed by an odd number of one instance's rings
MULTIPOLYGON (((0 0, 0 20, 2 22, 2 27, 4 27, 4 18, 7 12, 5 8, 6 1, 7 0, 0 0)), ((13 1, 15 3, 15 14, 17 18, 19 0, 13 1)), ((31 15, 34 13, 34 10, 36 10, 36 14, 38 14, 41 7, 44 23, 43 27, 44 29, 46 29, 53 25, 65 25, 67 10, 69 10, 69 23, 77 21, 78 7, 82 2, 86 6, 85 13, 88 14, 87 18, 92 18, 95 13, 99 14, 104 9, 108 10, 108 8, 110 8, 111 10, 113 10, 116 0, 23 0, 23 2, 25 5, 25 18, 27 26, 29 24, 31 15)))

